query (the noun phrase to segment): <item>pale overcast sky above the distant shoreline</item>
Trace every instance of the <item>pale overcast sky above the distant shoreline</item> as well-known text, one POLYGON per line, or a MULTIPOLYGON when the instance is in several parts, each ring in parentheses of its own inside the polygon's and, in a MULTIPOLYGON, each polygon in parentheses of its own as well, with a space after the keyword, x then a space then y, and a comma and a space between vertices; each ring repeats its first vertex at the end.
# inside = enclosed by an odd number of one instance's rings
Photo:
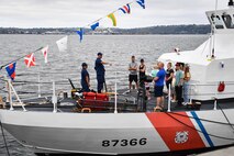
MULTIPOLYGON (((90 24, 133 0, 0 0, 0 27, 79 27, 90 24)), ((219 0, 226 9, 229 0, 219 0)), ((143 27, 172 24, 208 24, 204 14, 214 10, 215 0, 145 0, 132 13, 118 12, 118 27, 143 27)), ((100 21, 111 26, 109 19, 100 21)))

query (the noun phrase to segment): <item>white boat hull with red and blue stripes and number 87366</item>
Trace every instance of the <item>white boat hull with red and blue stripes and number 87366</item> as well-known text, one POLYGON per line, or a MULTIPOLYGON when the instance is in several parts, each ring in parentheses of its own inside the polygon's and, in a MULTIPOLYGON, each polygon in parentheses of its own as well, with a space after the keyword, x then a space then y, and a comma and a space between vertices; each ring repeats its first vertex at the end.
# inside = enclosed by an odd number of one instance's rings
MULTIPOLYGON (((225 111, 231 122, 233 112, 225 111)), ((80 114, 0 110, 0 118, 4 129, 35 153, 167 153, 234 142, 233 129, 221 111, 80 114)))

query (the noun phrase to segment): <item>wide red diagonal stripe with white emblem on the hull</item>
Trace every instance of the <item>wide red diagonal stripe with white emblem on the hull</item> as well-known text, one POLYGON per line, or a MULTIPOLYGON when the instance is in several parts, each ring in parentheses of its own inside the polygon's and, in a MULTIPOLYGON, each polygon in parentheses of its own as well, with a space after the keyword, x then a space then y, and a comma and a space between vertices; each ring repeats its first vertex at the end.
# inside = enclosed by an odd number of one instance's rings
MULTIPOLYGON (((188 116, 186 112, 181 112, 180 114, 188 116)), ((176 114, 170 115, 194 129, 194 125, 192 124, 189 118, 176 114)), ((205 147, 198 131, 186 126, 185 124, 178 122, 168 114, 146 113, 146 116, 152 122, 155 130, 159 133, 159 135, 161 136, 161 138, 170 151, 186 151, 205 147)))

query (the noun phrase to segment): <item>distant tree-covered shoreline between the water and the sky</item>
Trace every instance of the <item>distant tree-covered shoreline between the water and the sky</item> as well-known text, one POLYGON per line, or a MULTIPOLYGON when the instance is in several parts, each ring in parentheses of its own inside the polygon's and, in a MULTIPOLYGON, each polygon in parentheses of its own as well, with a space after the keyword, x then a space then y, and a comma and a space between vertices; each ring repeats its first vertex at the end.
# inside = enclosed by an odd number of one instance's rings
MULTIPOLYGON (((0 27, 0 34, 38 34, 38 35, 64 35, 76 34, 76 27, 40 27, 40 29, 19 29, 19 27, 0 27)), ((202 25, 159 25, 138 29, 83 29, 86 35, 191 35, 191 34, 209 34, 211 26, 202 25)))

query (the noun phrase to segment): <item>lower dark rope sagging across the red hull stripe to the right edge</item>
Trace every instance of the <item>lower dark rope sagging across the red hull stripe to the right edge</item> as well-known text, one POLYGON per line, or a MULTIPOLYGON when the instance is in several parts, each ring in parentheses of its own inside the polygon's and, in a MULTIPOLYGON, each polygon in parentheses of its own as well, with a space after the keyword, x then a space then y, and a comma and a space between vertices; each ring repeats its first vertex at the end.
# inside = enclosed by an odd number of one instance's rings
MULTIPOLYGON (((204 134, 201 130, 198 130, 198 129, 196 129, 196 127, 193 127, 193 126, 191 126, 191 125, 186 124, 185 122, 181 122, 180 120, 178 120, 178 119, 176 119, 175 116, 172 116, 170 113, 168 113, 168 112, 165 112, 165 113, 166 113, 168 116, 170 116, 171 119, 174 119, 175 121, 177 121, 178 123, 180 123, 180 124, 182 124, 182 125, 185 125, 185 126, 187 126, 187 127, 189 127, 189 129, 191 129, 191 130, 194 130, 194 131, 197 131, 197 132, 199 132, 199 133, 204 134)), ((233 142, 234 142, 234 138, 223 137, 223 136, 219 136, 219 135, 210 134, 210 133, 207 133, 207 135, 213 136, 213 137, 216 137, 216 138, 221 138, 221 140, 226 140, 226 141, 233 141, 233 142)))

